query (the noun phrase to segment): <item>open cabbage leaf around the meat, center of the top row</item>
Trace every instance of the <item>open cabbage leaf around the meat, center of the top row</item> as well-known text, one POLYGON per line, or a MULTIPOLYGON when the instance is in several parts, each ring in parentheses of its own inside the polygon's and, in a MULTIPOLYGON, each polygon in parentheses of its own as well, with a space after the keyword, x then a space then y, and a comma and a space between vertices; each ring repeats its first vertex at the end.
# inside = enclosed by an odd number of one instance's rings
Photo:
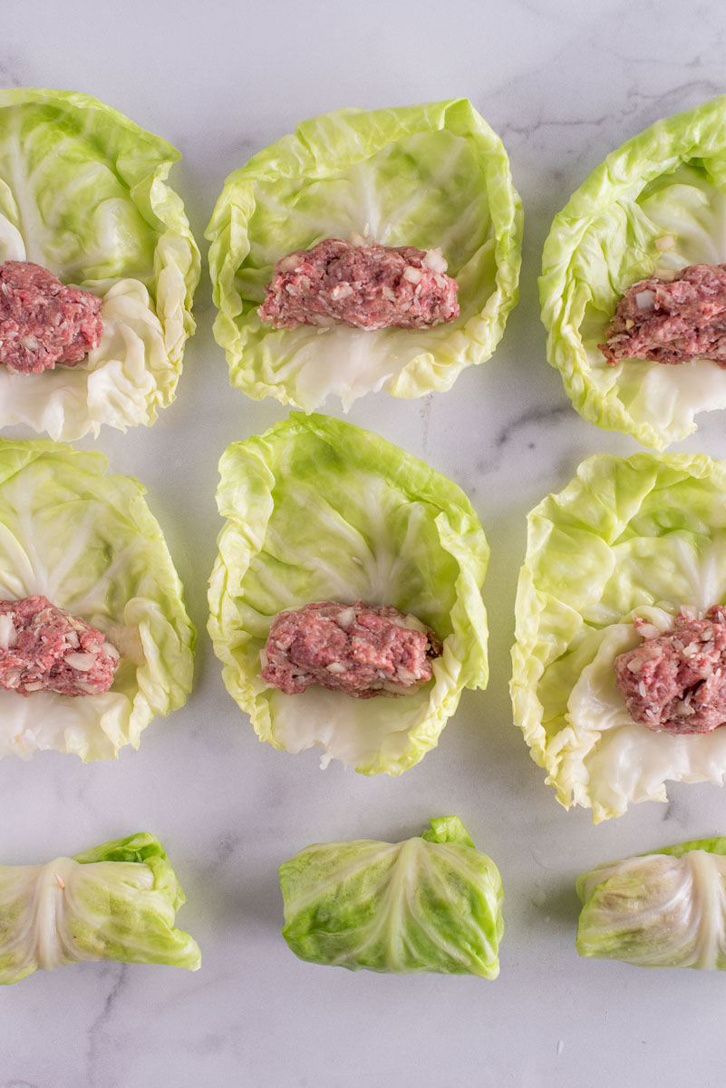
POLYGON ((231 384, 311 411, 387 390, 451 387, 492 354, 516 302, 522 205, 499 137, 466 99, 340 110, 300 124, 227 178, 208 227, 214 324, 231 384), (441 247, 461 317, 427 330, 275 330, 258 317, 275 262, 351 232, 441 247))

